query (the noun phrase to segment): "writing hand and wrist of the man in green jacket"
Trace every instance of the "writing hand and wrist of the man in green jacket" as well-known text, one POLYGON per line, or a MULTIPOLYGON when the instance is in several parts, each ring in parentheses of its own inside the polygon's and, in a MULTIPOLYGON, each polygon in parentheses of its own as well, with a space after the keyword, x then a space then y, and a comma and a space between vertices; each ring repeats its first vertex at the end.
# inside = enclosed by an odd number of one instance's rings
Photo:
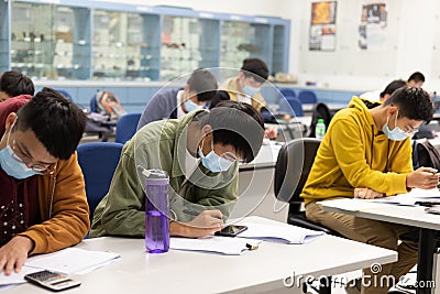
POLYGON ((172 236, 200 238, 221 230, 222 226, 223 220, 220 210, 205 210, 189 222, 170 222, 169 233, 172 236))

